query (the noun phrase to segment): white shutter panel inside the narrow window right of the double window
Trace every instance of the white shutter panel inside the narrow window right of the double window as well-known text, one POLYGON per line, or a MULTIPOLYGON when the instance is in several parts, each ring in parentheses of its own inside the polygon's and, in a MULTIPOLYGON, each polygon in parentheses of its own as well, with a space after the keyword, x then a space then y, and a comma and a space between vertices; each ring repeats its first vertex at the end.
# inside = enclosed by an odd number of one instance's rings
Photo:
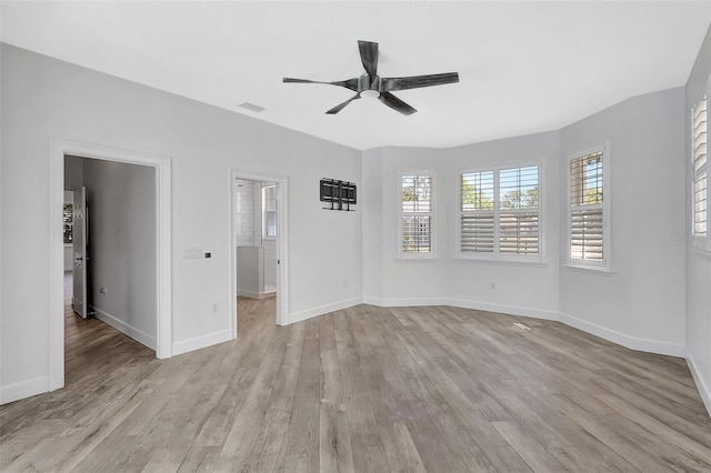
POLYGON ((604 261, 603 153, 570 162, 570 258, 604 261))

